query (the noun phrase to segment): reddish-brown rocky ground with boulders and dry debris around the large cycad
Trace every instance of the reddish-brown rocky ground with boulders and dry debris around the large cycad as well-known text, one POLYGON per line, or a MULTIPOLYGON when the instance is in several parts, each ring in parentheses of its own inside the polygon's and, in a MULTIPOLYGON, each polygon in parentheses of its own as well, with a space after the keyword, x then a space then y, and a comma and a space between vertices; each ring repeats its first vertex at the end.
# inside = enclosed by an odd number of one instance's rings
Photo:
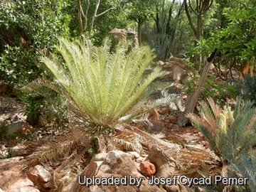
MULTIPOLYGON (((180 59, 169 58, 166 63, 158 63, 164 70, 171 73, 164 77, 164 80, 175 82, 175 86, 169 87, 169 93, 176 93, 183 99, 186 95, 180 91, 181 82, 187 80, 189 75, 194 74, 191 69, 180 59)), ((150 69, 149 69, 150 72, 150 69)), ((160 79, 162 80, 162 79, 160 79)), ((149 150, 142 154, 136 151, 110 151, 109 153, 96 154, 83 157, 86 160, 86 168, 76 166, 73 171, 68 163, 73 153, 66 151, 64 159, 52 161, 49 164, 42 164, 41 161, 31 160, 29 154, 36 154, 35 147, 40 141, 41 149, 51 144, 53 140, 63 139, 70 133, 70 127, 53 129, 52 124, 41 124, 41 127, 33 127, 26 122, 25 107, 16 97, 2 95, 0 86, 0 136, 9 134, 13 138, 10 141, 0 139, 0 192, 36 192, 36 191, 169 191, 186 192, 192 191, 193 186, 181 184, 178 176, 201 177, 201 174, 220 174, 220 159, 211 151, 208 142, 203 134, 191 124, 186 127, 178 127, 177 117, 181 112, 171 110, 169 106, 162 106, 151 110, 150 114, 142 119, 131 122, 131 127, 137 127, 149 134, 161 138, 164 142, 163 148, 149 142, 144 144, 149 150), (6 127, 6 128, 4 128, 6 127), (18 134, 16 134, 18 132, 18 134), (28 142, 31 141, 31 142, 28 142), (30 145, 30 146, 29 146, 30 145), (171 156, 170 154, 174 154, 171 156), (69 156, 70 155, 70 156, 69 156), (61 161, 61 162, 59 162, 61 161), (64 163, 63 163, 64 162, 64 163), (70 169, 66 169, 67 167, 70 169), (64 172, 64 173, 62 173, 64 172), (55 174, 54 174, 55 173, 55 174), (56 174, 57 173, 57 174, 56 174), (90 185, 88 187, 78 183, 85 181, 87 176, 114 177, 121 185, 90 185), (70 176, 71 175, 71 176, 70 176), (127 176, 127 178, 124 178, 127 176), (129 177, 130 176, 130 177, 129 177), (151 185, 156 178, 169 178, 169 181, 177 181, 176 185, 151 185), (177 176, 177 178, 174 178, 177 176), (61 177, 61 178, 60 178, 61 177), (123 178, 123 180, 119 180, 123 178), (134 179, 134 180, 133 180, 134 179), (136 180, 137 179, 137 180, 136 180), (134 181, 134 183, 132 183, 134 181), (125 183, 128 182, 128 183, 125 183), (127 185, 125 185, 127 184, 127 185)), ((159 92, 152 96, 159 97, 159 92)), ((74 125, 73 125, 74 126, 74 125)), ((85 149, 82 149, 85 151, 85 149)), ((50 156, 46 154, 46 156, 50 156)), ((79 154, 75 154, 77 158, 79 154)), ((82 158, 80 158, 82 159, 82 158)), ((71 161, 71 160, 70 160, 71 161)), ((186 178, 184 178, 186 180, 186 178)), ((96 180, 95 180, 96 181, 96 180)), ((97 180, 98 181, 98 180, 97 180)), ((100 181, 100 180, 99 180, 100 181)), ((104 182, 104 181, 100 181, 104 182)))

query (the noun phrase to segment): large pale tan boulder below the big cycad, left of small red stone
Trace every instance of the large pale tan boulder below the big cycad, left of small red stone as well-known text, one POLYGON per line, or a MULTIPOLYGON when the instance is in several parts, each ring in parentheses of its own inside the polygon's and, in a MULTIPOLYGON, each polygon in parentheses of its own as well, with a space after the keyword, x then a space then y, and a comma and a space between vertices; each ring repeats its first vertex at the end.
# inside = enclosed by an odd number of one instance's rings
MULTIPOLYGON (((97 156, 97 155, 96 155, 97 156)), ((86 191, 154 191, 154 192, 160 192, 163 191, 158 186, 150 186, 147 182, 148 180, 142 176, 142 174, 139 171, 139 164, 137 162, 133 161, 127 154, 125 154, 122 151, 110 151, 110 153, 105 156, 105 159, 102 161, 97 161, 98 159, 93 158, 90 161, 90 164, 87 165, 87 167, 82 171, 82 173, 79 174, 79 177, 76 177, 73 179, 73 181, 65 187, 63 190, 68 191, 74 191, 74 192, 86 192, 86 191), (91 186, 85 186, 84 183, 86 178, 92 178, 92 176, 95 176, 95 178, 114 178, 113 180, 116 180, 118 178, 123 179, 124 183, 127 182, 127 185, 120 184, 120 185, 91 185, 91 186), (125 180, 127 178, 127 180, 125 180), (79 180, 80 179, 80 180, 79 180), (136 182, 136 179, 140 179, 139 182, 136 182), (78 181, 81 181, 84 183, 83 185, 80 185, 78 181), (134 183, 132 183, 134 182, 134 183), (139 183, 141 184, 139 186, 139 183)), ((111 180, 110 180, 111 181, 111 180)))

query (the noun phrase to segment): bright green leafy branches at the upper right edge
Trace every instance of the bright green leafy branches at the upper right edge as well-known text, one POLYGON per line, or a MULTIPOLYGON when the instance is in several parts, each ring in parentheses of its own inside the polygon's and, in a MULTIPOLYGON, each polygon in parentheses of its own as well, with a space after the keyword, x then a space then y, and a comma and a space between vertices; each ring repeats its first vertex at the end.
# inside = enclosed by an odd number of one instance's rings
POLYGON ((209 38, 198 42, 194 52, 207 53, 211 48, 218 48, 220 56, 230 63, 227 68, 237 68, 238 63, 250 60, 250 65, 255 63, 255 30, 256 30, 256 7, 251 9, 227 9, 225 19, 228 21, 226 28, 220 28, 211 33, 209 38))

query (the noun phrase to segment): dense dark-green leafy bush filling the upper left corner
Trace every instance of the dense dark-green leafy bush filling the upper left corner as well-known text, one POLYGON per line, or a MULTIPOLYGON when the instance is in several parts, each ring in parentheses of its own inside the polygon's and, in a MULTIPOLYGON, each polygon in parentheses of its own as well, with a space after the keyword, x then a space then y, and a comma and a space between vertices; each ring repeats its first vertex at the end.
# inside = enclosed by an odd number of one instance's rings
POLYGON ((38 49, 53 50, 57 37, 67 36, 70 16, 65 1, 6 1, 0 4, 0 75, 9 85, 42 75, 38 49), (1 44, 1 43, 0 43, 1 44))

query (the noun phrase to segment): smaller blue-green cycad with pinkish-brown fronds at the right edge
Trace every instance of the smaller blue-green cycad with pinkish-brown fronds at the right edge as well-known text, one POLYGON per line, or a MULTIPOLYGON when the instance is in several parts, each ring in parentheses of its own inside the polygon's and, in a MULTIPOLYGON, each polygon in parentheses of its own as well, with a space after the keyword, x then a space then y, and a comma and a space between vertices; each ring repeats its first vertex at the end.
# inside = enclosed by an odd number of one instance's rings
MULTIPOLYGON (((200 117, 188 114, 193 124, 208 140, 215 154, 228 161, 240 175, 249 178, 250 189, 256 186, 256 111, 252 102, 236 100, 235 109, 230 106, 221 109, 212 98, 201 102, 200 117)), ((223 161, 224 162, 224 161, 223 161)))

